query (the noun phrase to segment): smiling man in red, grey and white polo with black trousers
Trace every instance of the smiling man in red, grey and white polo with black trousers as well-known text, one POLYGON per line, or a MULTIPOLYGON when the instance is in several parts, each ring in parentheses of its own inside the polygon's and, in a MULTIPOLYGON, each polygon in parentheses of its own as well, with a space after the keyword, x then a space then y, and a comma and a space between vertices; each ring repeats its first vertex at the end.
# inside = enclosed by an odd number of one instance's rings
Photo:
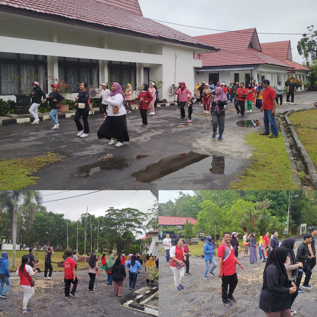
POLYGON ((230 232, 223 232, 223 244, 218 248, 219 269, 218 277, 221 277, 221 296, 223 305, 231 306, 236 302, 232 294, 238 284, 236 263, 243 269, 244 266, 235 257, 232 245, 230 244, 230 232), (228 292, 229 285, 229 292, 228 292))

